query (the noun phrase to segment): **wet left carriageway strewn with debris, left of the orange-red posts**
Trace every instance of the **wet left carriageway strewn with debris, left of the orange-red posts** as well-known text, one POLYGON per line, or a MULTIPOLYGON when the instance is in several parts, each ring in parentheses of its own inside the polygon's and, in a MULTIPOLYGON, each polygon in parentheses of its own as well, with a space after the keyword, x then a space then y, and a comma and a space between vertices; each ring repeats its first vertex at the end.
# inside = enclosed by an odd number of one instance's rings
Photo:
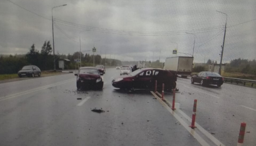
POLYGON ((115 90, 115 76, 106 69, 102 91, 77 91, 74 74, 0 84, 0 145, 200 145, 148 91, 115 90))

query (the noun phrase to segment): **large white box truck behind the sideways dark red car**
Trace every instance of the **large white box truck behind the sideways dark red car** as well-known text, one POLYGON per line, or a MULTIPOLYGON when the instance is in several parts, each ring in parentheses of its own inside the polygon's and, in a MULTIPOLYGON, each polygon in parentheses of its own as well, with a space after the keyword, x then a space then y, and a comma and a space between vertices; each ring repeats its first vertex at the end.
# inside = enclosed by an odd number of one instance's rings
POLYGON ((170 70, 176 76, 187 77, 192 72, 194 57, 177 56, 168 57, 164 63, 164 69, 170 70))

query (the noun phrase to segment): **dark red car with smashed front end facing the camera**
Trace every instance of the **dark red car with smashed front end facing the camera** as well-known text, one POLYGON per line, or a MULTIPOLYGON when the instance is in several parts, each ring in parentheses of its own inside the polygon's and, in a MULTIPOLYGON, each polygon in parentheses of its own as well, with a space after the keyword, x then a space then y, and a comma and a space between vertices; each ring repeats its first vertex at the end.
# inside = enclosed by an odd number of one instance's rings
POLYGON ((97 68, 95 67, 80 67, 76 76, 76 87, 81 88, 103 88, 103 80, 97 68))

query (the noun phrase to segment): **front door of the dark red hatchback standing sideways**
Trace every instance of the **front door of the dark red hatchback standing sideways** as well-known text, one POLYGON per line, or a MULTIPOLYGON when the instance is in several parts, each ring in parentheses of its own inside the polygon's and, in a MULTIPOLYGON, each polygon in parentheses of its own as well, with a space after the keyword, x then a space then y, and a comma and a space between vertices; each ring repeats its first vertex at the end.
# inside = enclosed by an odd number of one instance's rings
POLYGON ((153 70, 145 70, 141 72, 135 81, 135 89, 147 89, 151 87, 153 70))

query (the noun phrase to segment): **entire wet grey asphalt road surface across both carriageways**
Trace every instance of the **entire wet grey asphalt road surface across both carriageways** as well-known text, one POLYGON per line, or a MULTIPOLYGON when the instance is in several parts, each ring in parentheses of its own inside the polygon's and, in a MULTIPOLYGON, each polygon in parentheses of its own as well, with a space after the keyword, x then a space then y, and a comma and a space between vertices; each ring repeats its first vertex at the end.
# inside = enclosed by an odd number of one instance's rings
MULTIPOLYGON (((77 91, 74 74, 0 84, 0 145, 200 145, 149 91, 112 87, 116 76, 119 70, 106 69, 102 91, 77 91)), ((224 145, 236 145, 241 122, 250 132, 244 145, 256 144, 255 89, 202 87, 189 79, 178 79, 177 88, 182 112, 191 117, 197 99, 196 122, 224 145)))

